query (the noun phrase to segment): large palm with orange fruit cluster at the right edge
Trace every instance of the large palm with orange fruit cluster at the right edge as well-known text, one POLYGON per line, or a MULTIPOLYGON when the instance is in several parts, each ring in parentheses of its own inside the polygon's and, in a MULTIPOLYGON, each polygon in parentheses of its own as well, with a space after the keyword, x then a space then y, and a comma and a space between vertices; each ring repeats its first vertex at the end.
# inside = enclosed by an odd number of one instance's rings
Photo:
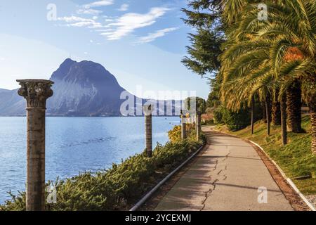
MULTIPOLYGON (((301 99, 295 99, 300 94, 301 84, 303 99, 310 108, 312 152, 316 153, 316 3, 312 0, 284 0, 283 5, 274 6, 271 11, 272 23, 268 23, 258 34, 275 40, 275 47, 270 48, 271 60, 276 65, 277 79, 280 71, 287 73, 282 81, 288 87, 284 91, 287 91, 289 114, 294 115, 289 108, 296 108, 296 113, 301 110, 301 99), (296 95, 289 94, 293 88, 296 88, 296 95)), ((291 118, 291 115, 288 117, 291 118)), ((301 131, 301 115, 294 115, 292 119, 299 123, 294 131, 301 131)), ((291 125, 289 127, 293 129, 291 125)))

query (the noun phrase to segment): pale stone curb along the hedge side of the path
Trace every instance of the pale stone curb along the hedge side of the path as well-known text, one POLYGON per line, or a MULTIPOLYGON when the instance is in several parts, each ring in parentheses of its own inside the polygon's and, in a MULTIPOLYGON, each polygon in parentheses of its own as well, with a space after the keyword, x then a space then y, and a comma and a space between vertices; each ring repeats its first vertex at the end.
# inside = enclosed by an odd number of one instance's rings
POLYGON ((174 174, 176 174, 176 172, 178 172, 180 169, 182 169, 182 167, 184 167, 187 162, 189 162, 190 160, 192 160, 192 158, 195 158, 195 156, 197 154, 199 154, 199 152, 205 147, 205 144, 202 145, 201 147, 199 147, 199 149, 193 153, 189 158, 187 158, 187 160, 185 160, 181 165, 179 165, 178 167, 176 167, 176 169, 173 169, 173 171, 168 174, 164 179, 162 179, 162 181, 160 181, 156 186, 154 186, 154 188, 152 188, 152 190, 150 190, 149 192, 147 192, 146 195, 143 196, 143 198, 141 198, 138 203, 136 203, 131 210, 129 211, 136 211, 138 210, 138 208, 140 206, 142 206, 148 199, 150 199, 150 197, 152 197, 152 195, 162 186, 166 183, 166 181, 168 181, 171 176, 173 176, 174 174))

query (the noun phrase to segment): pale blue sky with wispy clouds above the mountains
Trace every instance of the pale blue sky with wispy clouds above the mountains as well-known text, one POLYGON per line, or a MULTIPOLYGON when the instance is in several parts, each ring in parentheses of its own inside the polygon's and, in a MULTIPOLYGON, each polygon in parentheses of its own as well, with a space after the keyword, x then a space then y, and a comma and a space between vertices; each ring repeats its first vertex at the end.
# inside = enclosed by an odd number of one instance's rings
POLYGON ((0 88, 49 79, 66 59, 102 64, 124 89, 196 91, 209 85, 180 62, 193 32, 185 0, 1 0, 0 88))

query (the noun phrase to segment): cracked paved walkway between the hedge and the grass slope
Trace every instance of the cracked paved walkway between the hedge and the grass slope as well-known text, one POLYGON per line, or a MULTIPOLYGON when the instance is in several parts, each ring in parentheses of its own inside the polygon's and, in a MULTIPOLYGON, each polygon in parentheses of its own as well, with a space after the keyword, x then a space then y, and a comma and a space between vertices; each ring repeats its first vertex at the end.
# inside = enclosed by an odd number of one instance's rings
POLYGON ((203 129, 210 144, 155 210, 293 210, 249 143, 203 129))

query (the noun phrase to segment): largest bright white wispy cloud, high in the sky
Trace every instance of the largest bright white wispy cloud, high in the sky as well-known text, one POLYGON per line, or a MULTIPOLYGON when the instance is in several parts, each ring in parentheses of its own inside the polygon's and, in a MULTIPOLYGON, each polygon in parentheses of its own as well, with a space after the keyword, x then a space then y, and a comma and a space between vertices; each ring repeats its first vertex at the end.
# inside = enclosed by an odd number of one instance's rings
POLYGON ((117 40, 130 34, 134 30, 147 27, 156 23, 156 19, 162 17, 169 8, 156 7, 151 8, 148 13, 126 13, 118 18, 115 23, 110 23, 109 27, 114 27, 113 32, 106 32, 101 35, 107 37, 108 40, 117 40))

